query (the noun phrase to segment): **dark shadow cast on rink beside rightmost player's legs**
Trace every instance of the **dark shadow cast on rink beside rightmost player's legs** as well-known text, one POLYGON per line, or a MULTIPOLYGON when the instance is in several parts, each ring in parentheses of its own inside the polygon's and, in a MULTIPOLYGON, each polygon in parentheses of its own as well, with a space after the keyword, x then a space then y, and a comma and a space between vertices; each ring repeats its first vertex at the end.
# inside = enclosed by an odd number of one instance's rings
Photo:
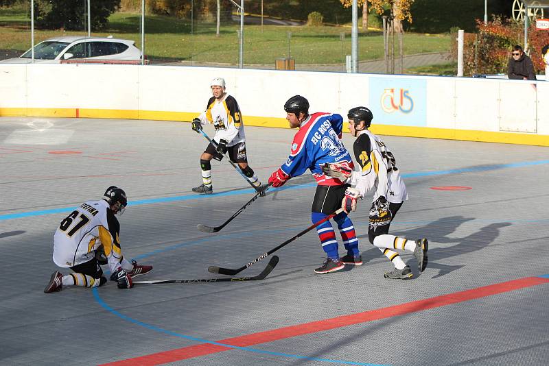
MULTIPOLYGON (((460 256, 463 254, 469 254, 477 252, 484 247, 487 247, 495 241, 495 239, 500 236, 500 229, 511 225, 509 222, 500 222, 500 223, 491 223, 486 225, 477 232, 473 232, 468 236, 462 238, 451 238, 449 234, 456 231, 456 229, 467 221, 474 220, 472 217, 463 217, 463 216, 450 216, 442 217, 432 223, 427 225, 422 225, 419 228, 414 228, 410 230, 404 230, 401 232, 392 232, 397 236, 409 238, 409 239, 419 239, 427 237, 429 239, 429 265, 428 269, 438 269, 437 273, 433 278, 439 278, 445 276, 447 273, 456 271, 465 267, 465 265, 445 265, 440 263, 439 260, 450 258, 453 256, 460 256), (449 247, 443 247, 441 244, 452 244, 455 245, 449 247)), ((368 242, 368 235, 359 236, 361 239, 365 239, 368 242)), ((369 242, 368 242, 369 243, 369 242)), ((399 254, 402 252, 399 251, 399 254)), ((370 260, 372 258, 379 258, 382 256, 381 252, 377 247, 372 247, 364 252, 362 252, 362 259, 370 260)), ((415 266, 410 266, 415 267, 415 266)))

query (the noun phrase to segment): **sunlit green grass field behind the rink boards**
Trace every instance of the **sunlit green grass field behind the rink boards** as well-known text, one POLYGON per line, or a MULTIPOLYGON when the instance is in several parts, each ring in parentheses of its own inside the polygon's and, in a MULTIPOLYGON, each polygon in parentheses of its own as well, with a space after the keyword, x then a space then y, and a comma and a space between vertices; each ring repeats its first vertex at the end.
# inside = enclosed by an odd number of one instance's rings
MULTIPOLYGON (((136 41, 141 47, 139 14, 118 12, 109 19, 108 29, 93 36, 112 35, 136 41)), ((192 25, 188 20, 167 16, 145 16, 145 54, 149 59, 185 60, 237 64, 239 56, 238 23, 224 24, 220 37, 215 36, 215 23, 192 25)), ((54 36, 87 35, 87 32, 35 30, 35 43, 54 36)), ((404 35, 404 54, 446 52, 449 34, 404 35)), ((30 21, 25 10, 0 8, 0 49, 30 49, 30 21)), ((397 45, 396 45, 397 47, 397 45)), ((296 64, 341 64, 351 54, 350 27, 284 27, 244 26, 244 63, 274 64, 277 58, 290 56, 296 64), (288 47, 288 32, 291 32, 288 47)), ((360 32, 359 59, 383 58, 382 32, 360 32)))

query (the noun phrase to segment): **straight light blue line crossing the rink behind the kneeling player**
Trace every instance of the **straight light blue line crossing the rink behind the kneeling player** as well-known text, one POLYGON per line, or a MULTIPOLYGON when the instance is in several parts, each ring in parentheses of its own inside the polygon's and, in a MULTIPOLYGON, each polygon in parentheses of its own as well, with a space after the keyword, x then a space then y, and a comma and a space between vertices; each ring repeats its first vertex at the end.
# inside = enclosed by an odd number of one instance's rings
MULTIPOLYGON (((403 174, 401 176, 402 176, 402 178, 421 178, 421 177, 429 177, 431 175, 474 173, 474 172, 477 172, 477 171, 491 171, 491 170, 498 170, 498 169, 532 167, 532 166, 535 166, 535 165, 543 165, 543 164, 549 164, 549 160, 513 162, 511 164, 489 164, 489 165, 482 165, 482 166, 479 166, 479 167, 469 167, 469 168, 463 168, 463 169, 449 169, 449 170, 442 170, 442 171, 421 171, 419 173, 408 173, 408 174, 403 174)), ((285 187, 278 188, 278 190, 303 189, 303 188, 310 188, 310 187, 313 187, 313 186, 316 186, 316 184, 314 182, 307 183, 307 184, 300 184, 299 186, 285 186, 285 187)), ((271 190, 276 190, 277 188, 270 188, 270 189, 271 190)), ((183 195, 183 196, 174 196, 174 197, 141 199, 139 201, 128 202, 128 206, 139 206, 139 205, 146 205, 146 204, 161 204, 161 203, 166 203, 166 202, 188 201, 190 199, 207 199, 207 198, 211 198, 211 197, 227 197, 227 196, 242 195, 242 194, 248 194, 248 193, 255 193, 255 191, 253 189, 245 189, 245 190, 239 190, 239 191, 215 193, 213 195, 207 195, 207 196, 193 194, 193 195, 183 195)), ((66 207, 66 208, 54 208, 54 209, 51 209, 51 210, 19 212, 19 213, 14 213, 14 214, 0 215, 0 221, 11 220, 11 219, 21 219, 23 217, 43 216, 43 215, 51 215, 51 214, 56 214, 56 213, 71 212, 72 210, 74 210, 73 207, 66 207)))

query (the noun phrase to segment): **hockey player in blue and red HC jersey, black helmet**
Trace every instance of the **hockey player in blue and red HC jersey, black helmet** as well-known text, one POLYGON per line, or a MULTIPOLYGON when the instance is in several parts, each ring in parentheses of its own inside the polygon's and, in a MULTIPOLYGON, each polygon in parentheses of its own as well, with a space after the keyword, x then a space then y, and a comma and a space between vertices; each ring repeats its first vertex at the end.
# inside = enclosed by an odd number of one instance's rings
MULTIPOLYGON (((318 186, 312 203, 311 219, 316 223, 334 213, 341 206, 345 190, 349 187, 337 178, 331 178, 323 172, 324 164, 339 163, 353 169, 353 160, 345 149, 341 138, 343 119, 340 114, 309 114, 309 101, 301 95, 295 95, 286 101, 284 110, 291 128, 299 128, 292 142, 290 157, 269 178, 273 187, 282 186, 290 178, 301 175, 309 169, 318 186)), ((340 258, 338 241, 330 221, 318 225, 316 231, 320 243, 327 254, 325 263, 315 269, 316 273, 340 271, 344 265, 362 265, 358 251, 358 239, 355 228, 347 213, 334 217, 338 225, 347 254, 340 258)))

